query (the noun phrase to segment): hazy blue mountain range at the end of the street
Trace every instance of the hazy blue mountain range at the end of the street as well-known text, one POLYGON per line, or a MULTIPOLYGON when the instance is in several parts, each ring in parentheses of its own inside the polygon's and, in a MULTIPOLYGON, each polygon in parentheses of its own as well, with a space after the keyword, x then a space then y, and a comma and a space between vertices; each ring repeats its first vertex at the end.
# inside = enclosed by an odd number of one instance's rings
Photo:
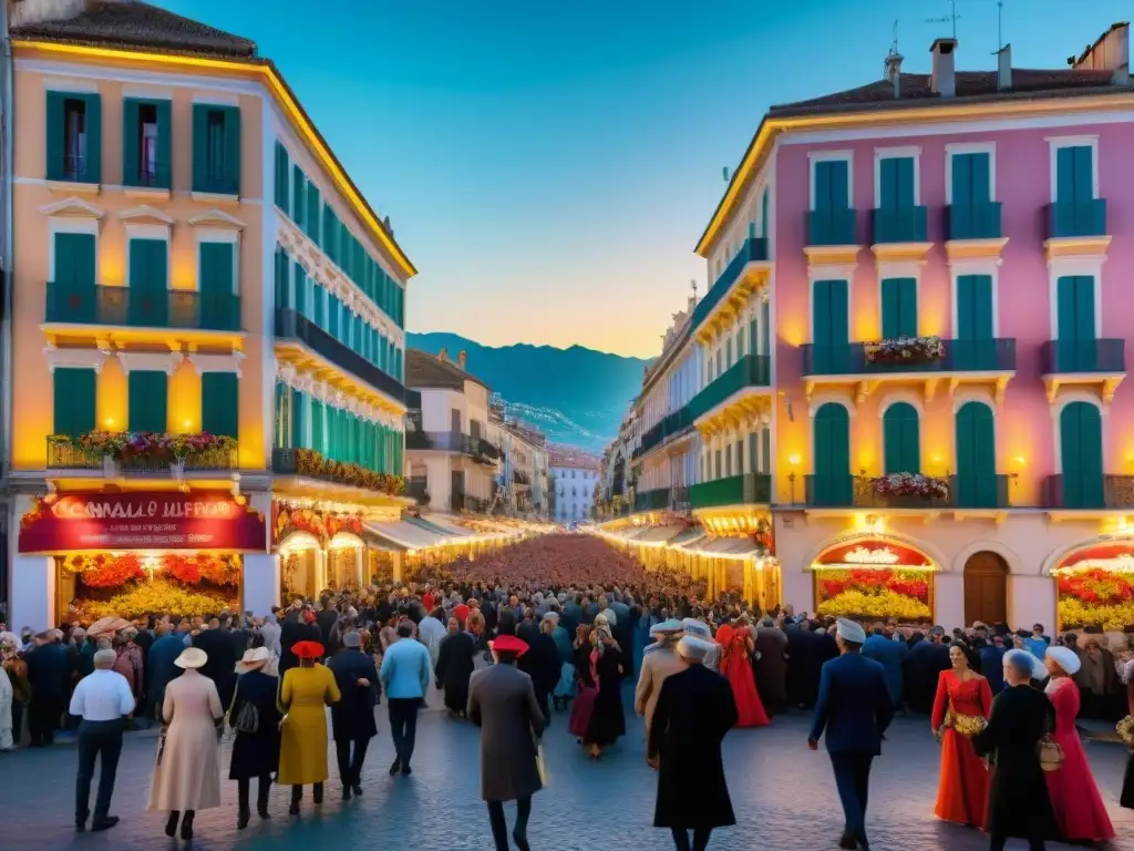
POLYGON ((553 443, 592 452, 601 452, 618 435, 649 363, 583 346, 484 346, 445 331, 406 337, 411 348, 434 355, 445 348, 451 361, 465 352, 465 369, 501 397, 509 418, 534 426, 553 443))

